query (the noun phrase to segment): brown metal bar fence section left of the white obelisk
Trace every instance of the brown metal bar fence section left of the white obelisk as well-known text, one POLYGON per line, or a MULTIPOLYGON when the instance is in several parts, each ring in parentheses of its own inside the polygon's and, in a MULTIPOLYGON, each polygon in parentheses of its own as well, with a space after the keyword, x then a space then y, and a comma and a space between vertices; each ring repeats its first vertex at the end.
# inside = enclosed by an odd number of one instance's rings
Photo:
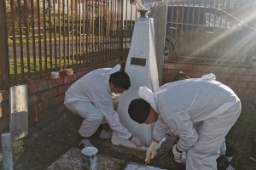
MULTIPOLYGON (((9 65, 0 82, 26 82, 50 71, 123 59, 136 10, 125 0, 5 0, 9 65)), ((3 23, 5 22, 5 23, 3 23)), ((3 47, 3 46, 2 46, 3 47)), ((2 49, 1 50, 5 50, 2 49)))

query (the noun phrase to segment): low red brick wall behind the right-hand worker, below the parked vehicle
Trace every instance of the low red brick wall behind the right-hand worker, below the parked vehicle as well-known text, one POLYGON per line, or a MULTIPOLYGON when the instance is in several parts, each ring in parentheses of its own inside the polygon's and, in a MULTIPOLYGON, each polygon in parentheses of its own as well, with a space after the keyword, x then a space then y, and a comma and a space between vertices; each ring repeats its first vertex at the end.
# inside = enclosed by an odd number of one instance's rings
POLYGON ((169 63, 164 65, 163 83, 170 82, 178 71, 186 72, 189 77, 201 77, 212 72, 219 82, 223 82, 232 88, 242 101, 256 104, 255 68, 169 63))

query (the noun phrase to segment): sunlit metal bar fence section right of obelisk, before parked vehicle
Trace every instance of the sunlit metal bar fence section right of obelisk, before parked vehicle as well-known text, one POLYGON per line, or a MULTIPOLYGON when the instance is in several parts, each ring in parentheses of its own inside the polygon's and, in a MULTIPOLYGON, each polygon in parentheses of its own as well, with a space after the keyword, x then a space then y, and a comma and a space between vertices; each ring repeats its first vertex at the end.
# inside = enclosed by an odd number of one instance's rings
POLYGON ((255 5, 255 0, 169 0, 166 61, 255 65, 255 5))

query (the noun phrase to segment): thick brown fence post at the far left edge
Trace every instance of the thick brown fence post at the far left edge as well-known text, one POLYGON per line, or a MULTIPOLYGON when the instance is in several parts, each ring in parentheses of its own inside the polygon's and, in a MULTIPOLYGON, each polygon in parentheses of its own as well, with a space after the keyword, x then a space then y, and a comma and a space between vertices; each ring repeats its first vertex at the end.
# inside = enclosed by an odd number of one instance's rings
POLYGON ((9 82, 8 35, 5 1, 0 1, 0 88, 7 88, 9 82))

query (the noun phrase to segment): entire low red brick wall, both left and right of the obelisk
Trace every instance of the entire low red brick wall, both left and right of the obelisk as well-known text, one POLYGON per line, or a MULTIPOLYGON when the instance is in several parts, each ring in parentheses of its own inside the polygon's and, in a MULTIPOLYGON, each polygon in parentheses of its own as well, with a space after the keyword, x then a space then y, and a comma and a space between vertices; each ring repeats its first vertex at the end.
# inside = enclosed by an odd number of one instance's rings
MULTIPOLYGON (((101 67, 112 67, 113 63, 98 65, 75 72, 72 76, 61 76, 58 79, 46 78, 39 82, 28 83, 29 123, 35 124, 34 118, 38 113, 41 126, 50 120, 61 117, 65 107, 63 104, 64 94, 67 88, 89 71, 101 67)), ((184 71, 189 77, 201 77, 207 73, 214 73, 219 82, 230 86, 238 96, 248 102, 256 103, 256 69, 220 67, 209 65, 189 64, 165 64, 163 71, 163 83, 169 82, 178 72, 184 71)), ((8 91, 0 91, 0 102, 7 103, 8 91)), ((9 105, 0 107, 0 133, 9 128, 9 105)))

